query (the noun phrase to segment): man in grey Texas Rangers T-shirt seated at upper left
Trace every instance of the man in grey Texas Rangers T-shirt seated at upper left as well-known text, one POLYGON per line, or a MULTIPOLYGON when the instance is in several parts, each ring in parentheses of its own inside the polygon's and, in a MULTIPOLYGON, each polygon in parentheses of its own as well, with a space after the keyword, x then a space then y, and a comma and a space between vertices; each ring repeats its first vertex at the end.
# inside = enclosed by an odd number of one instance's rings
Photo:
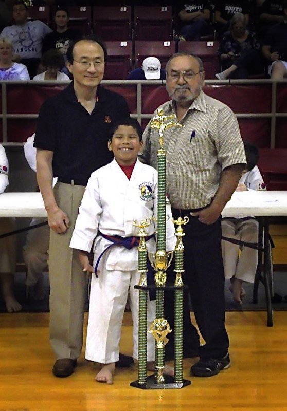
POLYGON ((52 30, 40 20, 28 21, 28 8, 22 1, 13 5, 14 25, 5 27, 1 37, 7 37, 14 47, 13 60, 27 66, 32 79, 42 56, 42 41, 52 30))

